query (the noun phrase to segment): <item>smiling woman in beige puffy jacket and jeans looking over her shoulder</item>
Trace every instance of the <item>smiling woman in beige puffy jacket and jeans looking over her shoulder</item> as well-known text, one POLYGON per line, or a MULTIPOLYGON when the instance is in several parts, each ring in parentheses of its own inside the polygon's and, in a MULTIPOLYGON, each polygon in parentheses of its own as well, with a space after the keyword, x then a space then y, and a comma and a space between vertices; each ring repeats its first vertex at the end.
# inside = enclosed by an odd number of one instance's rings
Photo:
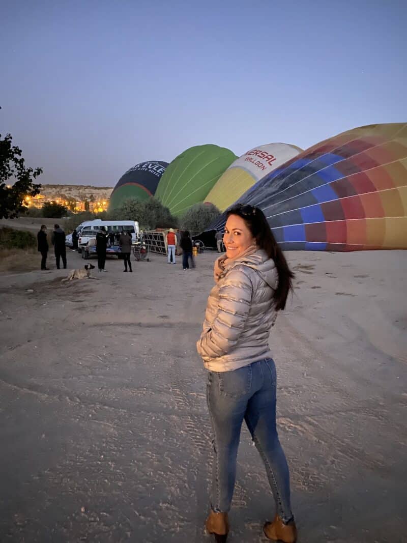
POLYGON ((215 540, 226 541, 244 419, 276 502, 275 519, 264 525, 264 533, 273 541, 294 543, 289 471, 276 429, 276 367, 268 345, 270 328, 285 307, 294 274, 258 207, 236 206, 228 211, 224 244, 226 255, 215 262, 215 286, 197 343, 208 370, 215 453, 206 528, 215 540))

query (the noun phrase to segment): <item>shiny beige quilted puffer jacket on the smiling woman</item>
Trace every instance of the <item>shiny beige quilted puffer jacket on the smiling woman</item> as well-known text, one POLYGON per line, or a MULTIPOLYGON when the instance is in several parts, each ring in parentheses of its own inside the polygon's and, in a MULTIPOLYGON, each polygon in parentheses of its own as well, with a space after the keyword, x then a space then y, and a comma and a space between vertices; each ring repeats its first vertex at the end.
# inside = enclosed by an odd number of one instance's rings
POLYGON ((209 294, 196 349, 210 371, 236 370, 271 357, 277 269, 262 249, 236 258, 209 294))

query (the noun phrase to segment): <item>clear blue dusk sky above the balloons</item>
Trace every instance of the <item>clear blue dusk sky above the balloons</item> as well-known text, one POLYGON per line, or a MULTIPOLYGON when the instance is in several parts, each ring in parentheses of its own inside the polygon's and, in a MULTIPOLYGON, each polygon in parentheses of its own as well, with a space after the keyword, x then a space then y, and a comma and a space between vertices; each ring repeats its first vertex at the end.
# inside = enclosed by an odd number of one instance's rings
POLYGON ((215 143, 303 149, 407 121, 407 3, 21 1, 0 6, 0 133, 43 184, 115 186, 215 143))

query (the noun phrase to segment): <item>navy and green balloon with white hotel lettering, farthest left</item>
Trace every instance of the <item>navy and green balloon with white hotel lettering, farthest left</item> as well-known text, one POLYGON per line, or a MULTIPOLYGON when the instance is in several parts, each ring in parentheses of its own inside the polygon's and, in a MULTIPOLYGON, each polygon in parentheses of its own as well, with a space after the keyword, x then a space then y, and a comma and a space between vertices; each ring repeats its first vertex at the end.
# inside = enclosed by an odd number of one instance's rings
POLYGON ((168 162, 152 160, 141 162, 130 168, 118 180, 110 195, 110 209, 118 207, 127 198, 145 200, 154 196, 158 182, 167 166, 168 162))

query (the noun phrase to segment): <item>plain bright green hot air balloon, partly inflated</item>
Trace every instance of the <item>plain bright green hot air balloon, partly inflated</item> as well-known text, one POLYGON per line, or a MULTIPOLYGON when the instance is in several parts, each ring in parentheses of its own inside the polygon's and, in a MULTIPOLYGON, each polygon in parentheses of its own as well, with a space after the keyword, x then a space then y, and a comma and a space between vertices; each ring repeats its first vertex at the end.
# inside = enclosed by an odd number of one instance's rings
POLYGON ((217 145, 190 147, 170 163, 158 184, 156 198, 180 216, 205 199, 236 158, 232 151, 217 145))

